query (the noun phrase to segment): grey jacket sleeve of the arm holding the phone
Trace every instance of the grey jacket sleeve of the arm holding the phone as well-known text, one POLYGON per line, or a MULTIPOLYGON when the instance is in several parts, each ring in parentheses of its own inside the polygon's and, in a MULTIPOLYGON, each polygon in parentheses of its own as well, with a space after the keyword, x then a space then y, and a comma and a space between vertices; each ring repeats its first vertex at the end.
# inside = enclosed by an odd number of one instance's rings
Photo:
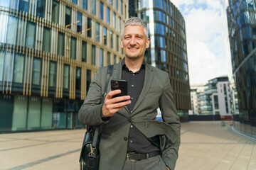
MULTIPOLYGON (((100 116, 100 111, 102 109, 102 83, 105 83, 105 79, 102 80, 101 74, 104 73, 100 68, 95 74, 92 83, 90 84, 89 91, 87 93, 86 99, 82 104, 80 111, 78 112, 78 118, 82 124, 85 125, 100 125, 101 123, 105 123, 100 116)), ((107 72, 107 69, 106 71, 107 72)), ((105 86, 105 84, 104 84, 105 86)))

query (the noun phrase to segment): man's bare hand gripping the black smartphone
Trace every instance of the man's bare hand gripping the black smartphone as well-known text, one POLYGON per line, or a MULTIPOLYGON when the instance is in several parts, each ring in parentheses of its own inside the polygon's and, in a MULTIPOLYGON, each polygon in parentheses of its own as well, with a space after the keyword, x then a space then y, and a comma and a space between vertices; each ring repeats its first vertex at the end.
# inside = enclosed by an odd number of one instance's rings
POLYGON ((121 94, 121 90, 110 91, 105 97, 104 104, 102 106, 102 114, 104 117, 111 117, 117 111, 120 111, 124 106, 127 106, 131 103, 129 100, 130 96, 119 96, 112 98, 117 94, 121 94))

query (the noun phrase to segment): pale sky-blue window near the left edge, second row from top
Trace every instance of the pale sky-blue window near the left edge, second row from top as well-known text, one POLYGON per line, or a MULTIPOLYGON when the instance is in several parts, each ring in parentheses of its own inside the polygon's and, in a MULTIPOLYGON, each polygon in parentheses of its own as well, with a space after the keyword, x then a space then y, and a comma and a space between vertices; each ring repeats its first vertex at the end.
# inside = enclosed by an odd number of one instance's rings
POLYGON ((6 42, 12 45, 16 45, 17 31, 18 30, 18 18, 9 16, 7 26, 7 38, 6 42))

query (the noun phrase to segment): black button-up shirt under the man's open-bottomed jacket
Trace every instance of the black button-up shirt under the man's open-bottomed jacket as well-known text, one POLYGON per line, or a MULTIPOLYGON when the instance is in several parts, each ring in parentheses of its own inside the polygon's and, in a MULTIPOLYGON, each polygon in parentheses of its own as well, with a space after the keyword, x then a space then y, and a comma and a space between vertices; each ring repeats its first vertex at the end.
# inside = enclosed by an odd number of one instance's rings
MULTIPOLYGON (((143 61, 141 68, 137 72, 130 71, 122 60, 122 79, 128 81, 128 95, 131 96, 131 101, 127 107, 129 112, 132 112, 139 95, 142 93, 145 78, 145 66, 146 63, 143 61)), ((137 153, 150 153, 159 151, 159 148, 153 145, 137 128, 133 125, 129 128, 129 140, 127 152, 137 153)))

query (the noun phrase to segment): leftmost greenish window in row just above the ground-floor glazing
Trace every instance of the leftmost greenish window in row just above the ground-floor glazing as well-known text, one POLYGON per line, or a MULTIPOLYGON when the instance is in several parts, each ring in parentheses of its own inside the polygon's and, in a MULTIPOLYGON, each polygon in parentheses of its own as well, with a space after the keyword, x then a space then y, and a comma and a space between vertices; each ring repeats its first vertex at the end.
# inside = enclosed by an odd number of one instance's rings
POLYGON ((23 83, 24 56, 15 56, 14 66, 14 82, 23 83))

